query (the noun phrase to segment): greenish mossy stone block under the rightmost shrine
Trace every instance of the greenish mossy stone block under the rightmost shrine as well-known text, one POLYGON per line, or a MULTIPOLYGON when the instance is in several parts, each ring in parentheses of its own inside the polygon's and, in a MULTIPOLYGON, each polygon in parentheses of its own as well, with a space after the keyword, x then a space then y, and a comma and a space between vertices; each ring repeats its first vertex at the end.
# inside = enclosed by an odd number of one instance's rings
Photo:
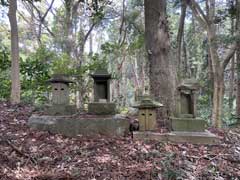
POLYGON ((171 117, 174 131, 201 132, 206 129, 206 122, 200 118, 175 118, 171 117))

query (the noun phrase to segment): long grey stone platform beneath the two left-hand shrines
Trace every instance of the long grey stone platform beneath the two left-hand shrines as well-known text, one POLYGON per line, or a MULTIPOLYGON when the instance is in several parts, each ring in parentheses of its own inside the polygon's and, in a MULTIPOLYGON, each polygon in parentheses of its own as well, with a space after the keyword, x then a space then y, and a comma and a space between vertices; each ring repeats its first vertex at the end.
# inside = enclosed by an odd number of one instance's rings
POLYGON ((66 136, 117 135, 123 136, 129 128, 127 119, 114 117, 76 118, 74 116, 32 115, 28 125, 34 129, 60 133, 66 136))

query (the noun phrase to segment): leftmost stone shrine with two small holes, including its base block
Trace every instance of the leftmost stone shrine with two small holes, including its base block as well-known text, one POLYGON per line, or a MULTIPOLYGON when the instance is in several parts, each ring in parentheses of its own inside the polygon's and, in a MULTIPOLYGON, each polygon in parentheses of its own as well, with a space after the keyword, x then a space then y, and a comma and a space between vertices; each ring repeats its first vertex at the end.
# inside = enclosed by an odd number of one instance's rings
POLYGON ((71 115, 76 112, 75 105, 70 105, 69 80, 64 74, 54 74, 50 80, 52 100, 51 105, 46 108, 49 115, 71 115))

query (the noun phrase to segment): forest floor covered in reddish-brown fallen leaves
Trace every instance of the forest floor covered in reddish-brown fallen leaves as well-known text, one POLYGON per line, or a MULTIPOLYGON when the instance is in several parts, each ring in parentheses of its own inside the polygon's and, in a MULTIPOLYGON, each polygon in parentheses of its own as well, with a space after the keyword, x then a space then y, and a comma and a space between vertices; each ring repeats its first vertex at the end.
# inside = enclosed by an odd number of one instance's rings
POLYGON ((30 106, 0 103, 0 180, 240 179, 240 129, 219 145, 67 138, 27 126, 30 106))

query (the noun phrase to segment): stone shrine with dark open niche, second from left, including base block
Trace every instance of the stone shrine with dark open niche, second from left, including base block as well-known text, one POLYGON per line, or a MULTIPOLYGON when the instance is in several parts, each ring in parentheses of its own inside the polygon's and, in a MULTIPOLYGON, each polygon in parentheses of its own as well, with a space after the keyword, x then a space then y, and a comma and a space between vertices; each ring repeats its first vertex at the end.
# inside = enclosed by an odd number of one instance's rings
POLYGON ((94 102, 88 104, 88 112, 98 115, 115 114, 116 105, 110 102, 111 74, 106 69, 98 69, 91 77, 94 81, 94 102))

